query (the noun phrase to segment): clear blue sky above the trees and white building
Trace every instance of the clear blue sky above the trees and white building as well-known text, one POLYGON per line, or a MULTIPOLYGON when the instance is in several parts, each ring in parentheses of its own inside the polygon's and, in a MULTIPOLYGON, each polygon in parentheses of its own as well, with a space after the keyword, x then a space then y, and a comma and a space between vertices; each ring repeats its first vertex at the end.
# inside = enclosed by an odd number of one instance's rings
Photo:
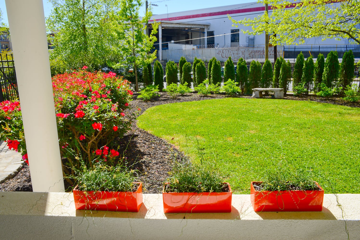
MULTIPOLYGON (((30 0, 26 0, 30 1, 30 0)), ((53 8, 52 5, 49 3, 48 0, 43 0, 44 3, 44 13, 45 17, 49 16, 51 13, 51 9, 53 8)), ((212 8, 217 6, 225 6, 225 5, 233 5, 233 4, 240 4, 240 3, 251 3, 256 2, 256 0, 227 0, 227 1, 220 1, 220 0, 154 0, 149 1, 149 4, 156 4, 158 6, 152 6, 153 14, 164 14, 164 13, 175 13, 178 11, 187 11, 187 10, 194 10, 194 9, 202 9, 202 8, 212 8), (167 5, 167 6, 166 6, 167 5)), ((5 0, 0 0, 0 9, 3 15, 3 22, 8 25, 8 16, 6 15, 6 6, 5 0)), ((145 0, 144 6, 141 10, 141 13, 145 12, 145 0)))

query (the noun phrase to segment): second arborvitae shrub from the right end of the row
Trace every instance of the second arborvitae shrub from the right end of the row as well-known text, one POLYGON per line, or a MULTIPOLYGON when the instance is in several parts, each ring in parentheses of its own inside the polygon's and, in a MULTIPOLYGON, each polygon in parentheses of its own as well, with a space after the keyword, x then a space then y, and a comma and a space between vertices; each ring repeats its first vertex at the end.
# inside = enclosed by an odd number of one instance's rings
POLYGON ((339 77, 339 59, 337 51, 330 51, 324 65, 323 83, 332 88, 339 77))

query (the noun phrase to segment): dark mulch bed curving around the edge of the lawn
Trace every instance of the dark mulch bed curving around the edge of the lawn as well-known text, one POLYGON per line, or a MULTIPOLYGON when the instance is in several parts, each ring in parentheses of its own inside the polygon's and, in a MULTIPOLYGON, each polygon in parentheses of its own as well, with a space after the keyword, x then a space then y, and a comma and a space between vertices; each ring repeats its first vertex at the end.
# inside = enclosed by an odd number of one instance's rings
MULTIPOLYGON (((125 112, 126 116, 139 115, 149 107, 174 103, 174 102, 188 102, 199 101, 214 98, 228 97, 225 95, 209 95, 198 96, 196 93, 189 93, 171 98, 166 93, 160 93, 160 96, 154 100, 144 102, 137 99, 138 94, 134 93, 134 100, 130 102, 130 109, 125 112)), ((251 96, 234 96, 251 98, 251 96)), ((269 96, 268 96, 269 97, 269 96)), ((337 105, 345 105, 351 107, 360 107, 360 103, 345 102, 341 98, 322 98, 317 96, 285 96, 287 100, 297 101, 316 101, 322 103, 331 103, 337 105)), ((120 146, 119 152, 123 153, 129 163, 134 163, 134 168, 141 172, 138 180, 143 182, 144 193, 161 193, 163 182, 169 176, 172 169, 172 161, 179 161, 184 157, 184 153, 179 151, 176 147, 169 144, 165 140, 158 138, 147 131, 139 129, 136 125, 136 120, 132 122, 131 130, 125 136, 118 140, 117 144, 120 146)), ((13 179, 9 179, 0 184, 0 191, 32 191, 29 167, 25 166, 19 174, 13 179)))

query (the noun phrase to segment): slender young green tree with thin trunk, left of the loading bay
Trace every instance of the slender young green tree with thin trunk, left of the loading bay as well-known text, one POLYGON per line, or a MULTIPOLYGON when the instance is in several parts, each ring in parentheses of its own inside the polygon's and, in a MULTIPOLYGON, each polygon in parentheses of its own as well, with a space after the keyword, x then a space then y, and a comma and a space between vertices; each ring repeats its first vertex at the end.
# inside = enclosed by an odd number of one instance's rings
POLYGON ((156 51, 151 54, 149 51, 153 48, 153 44, 157 40, 155 35, 158 24, 153 23, 153 30, 150 36, 148 36, 145 31, 147 28, 145 23, 148 22, 152 13, 148 9, 144 17, 140 18, 140 8, 142 5, 141 0, 121 0, 121 10, 116 16, 119 26, 125 33, 120 41, 120 51, 123 58, 121 59, 122 61, 115 66, 134 66, 135 91, 139 90, 138 74, 136 71, 137 66, 152 63, 156 58, 156 51))

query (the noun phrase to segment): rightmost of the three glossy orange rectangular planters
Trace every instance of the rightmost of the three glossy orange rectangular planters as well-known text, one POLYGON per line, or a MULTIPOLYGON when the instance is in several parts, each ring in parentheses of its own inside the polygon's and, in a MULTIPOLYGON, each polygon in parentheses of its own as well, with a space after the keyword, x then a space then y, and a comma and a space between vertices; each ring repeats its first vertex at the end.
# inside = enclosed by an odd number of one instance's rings
POLYGON ((257 191, 251 182, 250 199, 255 212, 322 211, 324 190, 257 191))

